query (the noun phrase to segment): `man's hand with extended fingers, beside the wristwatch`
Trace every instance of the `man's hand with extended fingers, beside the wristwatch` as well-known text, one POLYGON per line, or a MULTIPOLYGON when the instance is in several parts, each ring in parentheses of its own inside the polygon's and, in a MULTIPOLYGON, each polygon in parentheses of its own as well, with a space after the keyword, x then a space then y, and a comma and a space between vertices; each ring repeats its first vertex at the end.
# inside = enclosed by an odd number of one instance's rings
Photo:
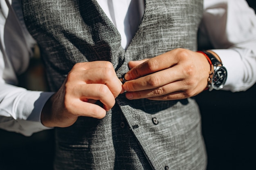
POLYGON ((128 99, 175 100, 207 87, 210 64, 202 54, 174 49, 148 60, 131 61, 123 85, 128 99))

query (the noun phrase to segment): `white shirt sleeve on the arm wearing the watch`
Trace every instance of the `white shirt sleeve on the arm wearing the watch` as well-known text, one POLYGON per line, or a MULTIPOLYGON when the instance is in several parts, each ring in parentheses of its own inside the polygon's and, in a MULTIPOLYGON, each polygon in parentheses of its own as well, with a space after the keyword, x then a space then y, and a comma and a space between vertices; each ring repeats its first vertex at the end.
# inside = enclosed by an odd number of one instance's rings
MULTIPOLYGON (((200 31, 227 68, 223 90, 246 91, 256 82, 256 15, 245 0, 204 0, 200 31)), ((205 42, 207 42, 205 40, 205 42)))

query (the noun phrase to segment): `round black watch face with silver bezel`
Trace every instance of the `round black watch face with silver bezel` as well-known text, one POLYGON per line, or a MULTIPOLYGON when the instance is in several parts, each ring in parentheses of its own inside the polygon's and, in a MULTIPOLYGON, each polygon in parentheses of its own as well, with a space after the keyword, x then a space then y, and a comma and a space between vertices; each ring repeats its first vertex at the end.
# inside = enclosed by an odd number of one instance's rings
POLYGON ((213 73, 213 77, 211 79, 211 85, 213 89, 220 90, 223 88, 225 82, 227 80, 227 70, 223 66, 219 66, 216 68, 216 71, 213 73))

